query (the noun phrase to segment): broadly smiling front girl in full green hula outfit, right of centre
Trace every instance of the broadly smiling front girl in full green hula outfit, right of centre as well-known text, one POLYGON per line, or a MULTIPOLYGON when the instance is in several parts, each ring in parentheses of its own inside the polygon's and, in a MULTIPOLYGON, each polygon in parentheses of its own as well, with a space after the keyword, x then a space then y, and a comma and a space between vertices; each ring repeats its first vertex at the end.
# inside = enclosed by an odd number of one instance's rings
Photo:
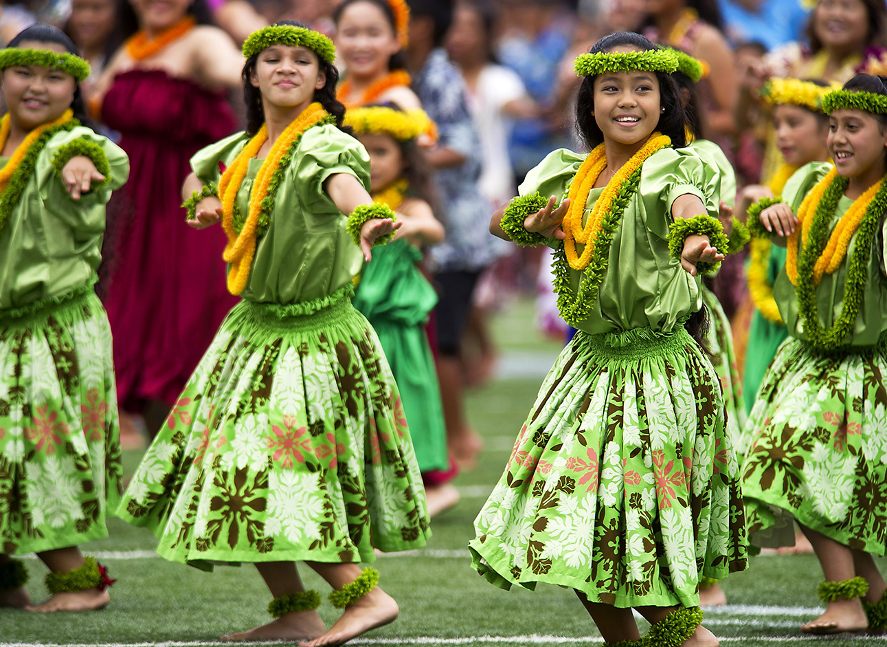
POLYGON ((716 645, 699 581, 746 566, 738 464, 697 341, 698 275, 727 241, 717 174, 679 148, 677 65, 629 33, 580 56, 592 153, 549 154, 491 223, 553 246, 558 306, 578 332, 475 520, 474 565, 501 588, 574 588, 608 643, 639 640, 634 608, 650 644, 716 645))

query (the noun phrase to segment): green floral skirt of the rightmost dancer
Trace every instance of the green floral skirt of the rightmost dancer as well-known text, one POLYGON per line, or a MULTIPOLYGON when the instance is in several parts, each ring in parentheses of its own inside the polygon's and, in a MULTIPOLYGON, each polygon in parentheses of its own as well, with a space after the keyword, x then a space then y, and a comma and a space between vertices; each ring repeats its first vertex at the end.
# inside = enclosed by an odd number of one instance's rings
POLYGON ((793 337, 782 343, 749 418, 742 492, 752 543, 793 545, 794 518, 887 554, 884 375, 883 346, 824 355, 793 337))

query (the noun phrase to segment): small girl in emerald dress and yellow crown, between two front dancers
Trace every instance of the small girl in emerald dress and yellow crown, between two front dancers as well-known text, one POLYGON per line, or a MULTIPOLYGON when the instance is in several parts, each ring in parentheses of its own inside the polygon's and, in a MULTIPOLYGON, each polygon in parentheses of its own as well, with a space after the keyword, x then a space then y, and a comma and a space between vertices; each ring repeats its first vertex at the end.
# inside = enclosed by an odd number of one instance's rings
POLYGON ((436 219, 428 164, 417 139, 428 130, 422 110, 403 111, 389 104, 352 108, 345 125, 370 155, 373 201, 395 209, 403 226, 395 240, 373 253, 361 273, 354 307, 373 325, 389 360, 404 402, 404 414, 425 480, 428 516, 459 501, 451 483, 429 472, 450 467, 443 406, 425 325, 437 293, 422 275, 421 247, 443 241, 436 219))

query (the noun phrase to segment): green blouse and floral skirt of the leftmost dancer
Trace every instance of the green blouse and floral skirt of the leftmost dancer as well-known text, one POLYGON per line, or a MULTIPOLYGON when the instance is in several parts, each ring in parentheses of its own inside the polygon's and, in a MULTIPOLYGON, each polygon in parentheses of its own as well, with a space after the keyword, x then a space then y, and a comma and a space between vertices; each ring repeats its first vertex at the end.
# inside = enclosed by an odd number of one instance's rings
POLYGON ((105 204, 129 172, 108 139, 82 126, 58 132, 0 229, 2 553, 102 539, 119 501, 111 328, 92 286, 105 204), (75 139, 101 146, 111 167, 108 182, 79 201, 51 163, 75 139))

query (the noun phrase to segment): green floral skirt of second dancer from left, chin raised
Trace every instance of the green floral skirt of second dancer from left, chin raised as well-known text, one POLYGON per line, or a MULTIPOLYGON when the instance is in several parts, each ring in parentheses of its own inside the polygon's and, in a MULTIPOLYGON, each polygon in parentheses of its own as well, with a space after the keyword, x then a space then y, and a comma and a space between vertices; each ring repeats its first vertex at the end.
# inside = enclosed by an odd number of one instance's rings
POLYGON ((404 409, 349 296, 243 301, 225 318, 119 510, 161 556, 372 562, 425 545, 404 409))

